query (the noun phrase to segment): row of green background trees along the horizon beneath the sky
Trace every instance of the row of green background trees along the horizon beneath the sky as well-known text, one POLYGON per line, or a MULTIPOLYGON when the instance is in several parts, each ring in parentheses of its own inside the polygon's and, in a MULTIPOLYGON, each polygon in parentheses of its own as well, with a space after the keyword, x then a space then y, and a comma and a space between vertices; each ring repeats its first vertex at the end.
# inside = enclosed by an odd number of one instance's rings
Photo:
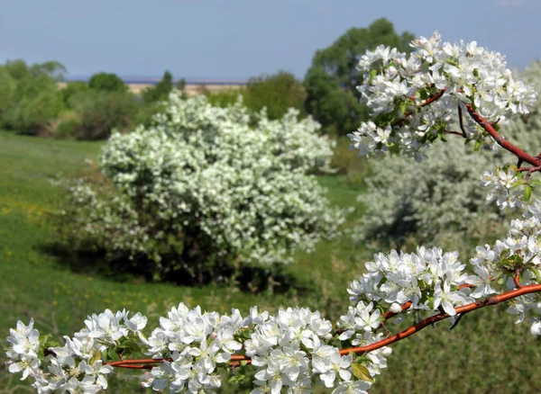
MULTIPOLYGON (((382 18, 368 28, 351 28, 326 49, 317 50, 304 81, 280 71, 252 77, 244 89, 203 93, 218 106, 235 103, 241 95, 252 112, 265 107, 271 120, 297 108, 301 116, 311 115, 321 123, 322 132, 344 136, 367 116, 355 91, 362 53, 380 44, 408 51, 412 39, 411 33, 397 33, 382 18)), ((57 138, 107 139, 111 130, 128 131, 148 123, 171 90, 185 85, 184 80, 175 85, 166 71, 157 85, 132 94, 120 77, 101 72, 88 82, 67 82, 60 88, 58 82, 66 74, 66 67, 57 61, 28 65, 18 59, 0 65, 0 128, 57 138)))

